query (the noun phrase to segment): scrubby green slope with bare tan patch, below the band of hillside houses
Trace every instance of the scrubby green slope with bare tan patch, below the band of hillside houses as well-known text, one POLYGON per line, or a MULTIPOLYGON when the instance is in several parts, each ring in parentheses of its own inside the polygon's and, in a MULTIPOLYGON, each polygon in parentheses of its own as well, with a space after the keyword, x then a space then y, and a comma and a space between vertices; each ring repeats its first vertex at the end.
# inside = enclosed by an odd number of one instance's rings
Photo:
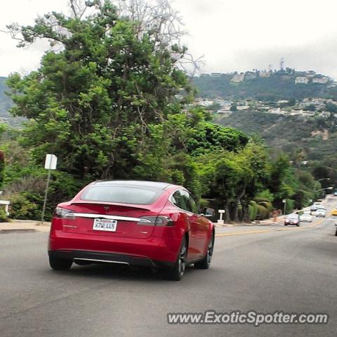
POLYGON ((303 160, 336 158, 337 119, 295 117, 263 112, 235 112, 230 117, 216 117, 216 122, 251 135, 260 135, 267 145, 291 154, 303 150, 303 160))

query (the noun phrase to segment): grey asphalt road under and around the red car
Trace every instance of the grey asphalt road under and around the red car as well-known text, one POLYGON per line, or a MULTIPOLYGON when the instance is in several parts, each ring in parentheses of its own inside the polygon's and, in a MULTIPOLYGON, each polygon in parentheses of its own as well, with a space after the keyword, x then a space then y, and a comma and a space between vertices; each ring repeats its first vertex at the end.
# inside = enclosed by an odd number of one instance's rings
MULTIPOLYGON (((334 201, 337 203, 337 201, 334 201)), ((331 202, 329 207, 331 207, 331 202)), ((229 229, 209 270, 170 282, 122 266, 48 267, 46 233, 0 235, 0 336, 333 336, 337 237, 332 220, 229 229), (308 228, 304 228, 308 226, 308 228), (234 234, 233 234, 234 233, 234 234), (169 325, 167 312, 326 312, 326 325, 169 325)), ((226 233, 226 230, 219 232, 226 233)))

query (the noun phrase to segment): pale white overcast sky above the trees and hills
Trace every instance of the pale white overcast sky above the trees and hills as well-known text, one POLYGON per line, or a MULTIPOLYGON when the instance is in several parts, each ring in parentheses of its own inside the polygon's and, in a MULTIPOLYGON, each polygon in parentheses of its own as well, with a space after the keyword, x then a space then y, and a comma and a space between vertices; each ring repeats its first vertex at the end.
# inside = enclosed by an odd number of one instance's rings
MULTIPOLYGON (((0 29, 29 24, 37 14, 66 11, 67 0, 2 1, 0 29)), ((315 70, 337 79, 336 0, 173 0, 194 56, 204 55, 204 72, 286 67, 315 70)), ((0 76, 39 66, 45 44, 28 49, 0 32, 0 76)))

